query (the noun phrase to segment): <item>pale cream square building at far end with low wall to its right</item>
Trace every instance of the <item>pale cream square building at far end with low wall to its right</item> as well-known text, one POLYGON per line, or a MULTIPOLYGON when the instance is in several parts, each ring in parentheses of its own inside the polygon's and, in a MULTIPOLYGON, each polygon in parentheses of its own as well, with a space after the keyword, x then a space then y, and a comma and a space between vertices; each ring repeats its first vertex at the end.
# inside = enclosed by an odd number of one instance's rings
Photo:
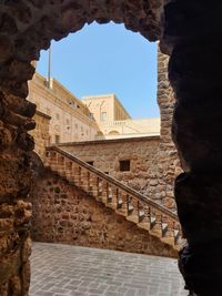
POLYGON ((97 139, 160 134, 160 118, 133 120, 115 94, 90 95, 82 101, 99 125, 97 139))

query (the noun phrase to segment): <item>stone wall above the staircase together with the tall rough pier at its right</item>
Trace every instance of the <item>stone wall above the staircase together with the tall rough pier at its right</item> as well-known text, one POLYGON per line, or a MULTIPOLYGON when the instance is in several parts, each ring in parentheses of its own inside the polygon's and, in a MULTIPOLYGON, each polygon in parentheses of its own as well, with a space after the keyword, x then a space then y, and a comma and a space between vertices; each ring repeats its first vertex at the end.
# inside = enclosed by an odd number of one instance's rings
POLYGON ((171 136, 175 99, 168 79, 168 63, 169 57, 158 51, 160 137, 85 142, 61 147, 83 161, 93 161, 99 170, 175 211, 174 180, 181 173, 181 164, 171 136), (130 172, 120 172, 120 160, 131 161, 130 172))

